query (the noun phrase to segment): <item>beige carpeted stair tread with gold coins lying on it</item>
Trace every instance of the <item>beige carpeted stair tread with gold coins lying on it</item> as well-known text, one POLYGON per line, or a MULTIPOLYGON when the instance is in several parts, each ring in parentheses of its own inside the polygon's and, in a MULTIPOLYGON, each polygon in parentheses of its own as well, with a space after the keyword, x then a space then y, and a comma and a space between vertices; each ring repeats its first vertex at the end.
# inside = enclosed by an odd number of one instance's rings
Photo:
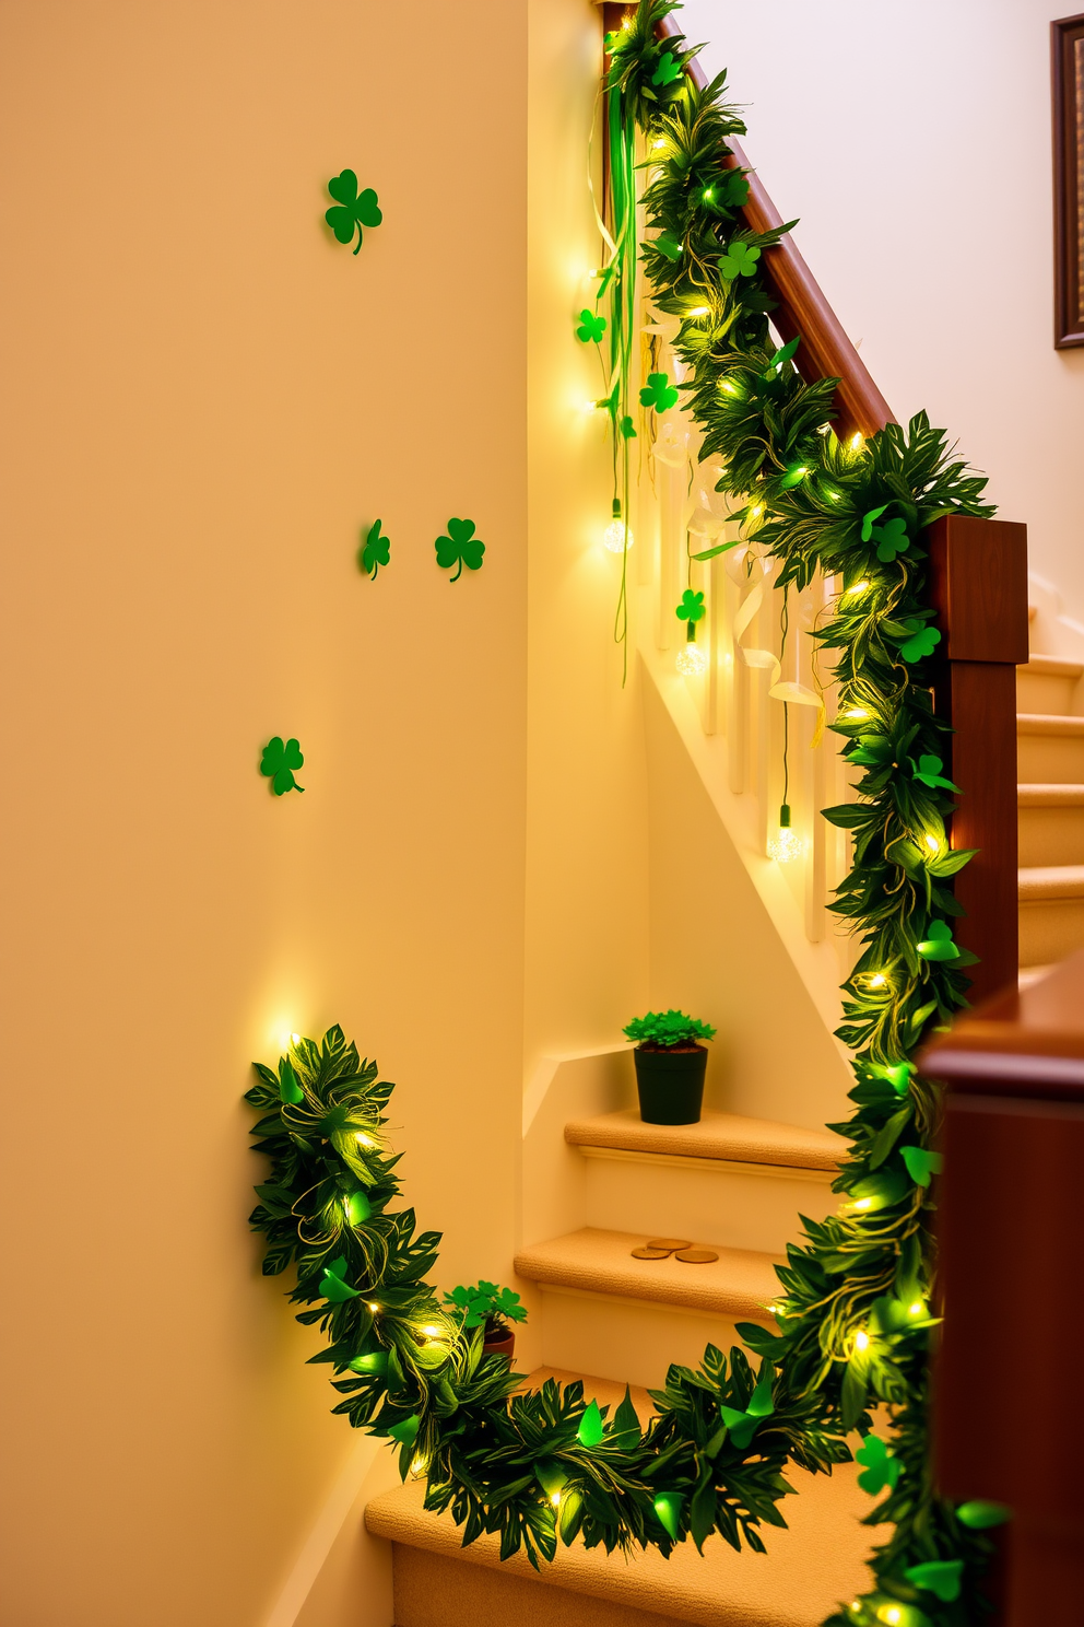
POLYGON ((702 1266, 686 1264, 673 1254, 666 1259, 634 1259, 632 1250, 642 1248, 652 1235, 657 1233, 583 1227, 522 1250, 515 1256, 515 1271, 544 1287, 679 1305, 726 1319, 772 1321, 765 1306, 780 1292, 774 1269, 777 1263, 783 1264, 778 1256, 692 1238, 697 1246, 713 1248, 718 1259, 702 1266))

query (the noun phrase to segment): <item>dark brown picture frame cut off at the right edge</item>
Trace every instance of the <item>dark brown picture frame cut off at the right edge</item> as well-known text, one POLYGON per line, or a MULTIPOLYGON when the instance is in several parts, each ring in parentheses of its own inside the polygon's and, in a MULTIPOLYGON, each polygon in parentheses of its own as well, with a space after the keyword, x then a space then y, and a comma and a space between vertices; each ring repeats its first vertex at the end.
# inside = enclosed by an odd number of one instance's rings
POLYGON ((1084 11, 1050 24, 1055 350, 1084 345, 1084 11))

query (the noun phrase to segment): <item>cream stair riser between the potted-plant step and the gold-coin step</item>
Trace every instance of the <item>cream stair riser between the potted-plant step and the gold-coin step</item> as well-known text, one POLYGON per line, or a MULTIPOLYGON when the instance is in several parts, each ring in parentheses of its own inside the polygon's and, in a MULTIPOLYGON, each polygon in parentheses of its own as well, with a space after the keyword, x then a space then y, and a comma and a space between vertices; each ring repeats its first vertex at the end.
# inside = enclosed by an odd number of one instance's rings
POLYGON ((627 1154, 590 1155, 585 1163, 585 1224, 618 1232, 783 1254, 798 1241, 800 1215, 822 1220, 840 1204, 829 1176, 756 1163, 705 1168, 691 1158, 627 1154))

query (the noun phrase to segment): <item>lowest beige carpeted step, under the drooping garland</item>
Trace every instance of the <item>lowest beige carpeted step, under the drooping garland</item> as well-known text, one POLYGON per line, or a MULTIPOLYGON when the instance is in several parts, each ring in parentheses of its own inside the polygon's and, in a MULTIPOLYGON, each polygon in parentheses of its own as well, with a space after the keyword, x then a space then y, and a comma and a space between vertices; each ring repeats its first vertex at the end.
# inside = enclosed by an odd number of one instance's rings
MULTIPOLYGON (((574 1373, 540 1368, 569 1383, 574 1373)), ((618 1404, 622 1386, 583 1380, 600 1406, 618 1404)), ((632 1393, 645 1419, 650 1401, 632 1393)), ((374 1497, 366 1528, 393 1544, 397 1627, 817 1627, 842 1599, 868 1585, 871 1533, 858 1524, 873 1500, 853 1464, 830 1476, 788 1469, 798 1492, 783 1502, 788 1529, 762 1528, 767 1554, 736 1554, 718 1536, 704 1554, 683 1542, 670 1559, 655 1549, 608 1555, 603 1547, 561 1547, 536 1573, 523 1554, 501 1560, 497 1536, 463 1547, 449 1515, 423 1508, 423 1482, 374 1497)))

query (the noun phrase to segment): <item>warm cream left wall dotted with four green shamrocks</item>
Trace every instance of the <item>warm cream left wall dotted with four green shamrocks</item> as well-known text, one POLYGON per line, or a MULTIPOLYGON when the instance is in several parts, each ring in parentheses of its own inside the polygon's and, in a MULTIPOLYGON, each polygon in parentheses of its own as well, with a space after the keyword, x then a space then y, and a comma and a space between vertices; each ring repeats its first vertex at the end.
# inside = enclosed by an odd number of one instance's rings
POLYGON ((0 29, 3 1620, 257 1627, 356 1443, 258 1276, 250 1058, 340 1020, 401 1080, 445 1285, 514 1246, 527 11, 0 29), (455 586, 450 514, 489 548, 455 586))

